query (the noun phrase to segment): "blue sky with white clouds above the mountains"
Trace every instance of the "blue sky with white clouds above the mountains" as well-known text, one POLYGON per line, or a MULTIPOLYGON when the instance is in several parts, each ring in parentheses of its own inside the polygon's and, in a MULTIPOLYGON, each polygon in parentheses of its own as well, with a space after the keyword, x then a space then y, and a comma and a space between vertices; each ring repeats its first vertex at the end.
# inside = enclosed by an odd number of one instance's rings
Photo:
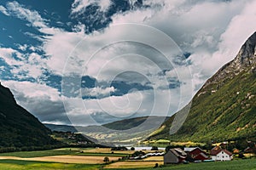
POLYGON ((256 31, 254 0, 0 2, 0 82, 41 122, 172 116, 256 31))

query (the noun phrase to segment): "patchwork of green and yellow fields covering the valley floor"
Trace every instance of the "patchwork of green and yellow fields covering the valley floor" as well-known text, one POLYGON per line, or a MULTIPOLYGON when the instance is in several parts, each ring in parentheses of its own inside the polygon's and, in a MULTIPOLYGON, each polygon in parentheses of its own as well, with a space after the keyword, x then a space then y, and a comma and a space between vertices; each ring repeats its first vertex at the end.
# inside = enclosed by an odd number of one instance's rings
MULTIPOLYGON (((148 150, 149 151, 149 150, 148 150)), ((234 161, 201 162, 163 166, 163 156, 152 156, 143 160, 126 160, 119 158, 131 154, 131 150, 110 150, 109 148, 63 148, 57 150, 12 152, 0 154, 0 170, 17 169, 157 169, 177 170, 256 170, 256 159, 236 159, 234 161), (109 163, 103 159, 108 156, 109 163)))

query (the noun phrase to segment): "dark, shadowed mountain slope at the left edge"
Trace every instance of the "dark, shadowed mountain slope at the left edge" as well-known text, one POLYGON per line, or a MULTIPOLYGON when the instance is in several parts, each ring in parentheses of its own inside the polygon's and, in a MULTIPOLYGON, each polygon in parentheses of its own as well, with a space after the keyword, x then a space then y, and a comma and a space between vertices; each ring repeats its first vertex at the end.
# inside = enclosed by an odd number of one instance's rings
POLYGON ((9 88, 0 83, 0 149, 12 147, 32 150, 58 144, 49 134, 50 130, 17 105, 9 88))

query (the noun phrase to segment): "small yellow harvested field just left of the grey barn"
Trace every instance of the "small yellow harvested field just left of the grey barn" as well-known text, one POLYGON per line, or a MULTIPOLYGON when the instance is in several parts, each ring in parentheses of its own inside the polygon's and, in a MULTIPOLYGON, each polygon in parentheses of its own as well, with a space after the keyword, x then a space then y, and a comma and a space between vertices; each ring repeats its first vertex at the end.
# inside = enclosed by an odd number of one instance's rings
POLYGON ((162 165, 163 161, 118 161, 111 163, 106 168, 139 168, 139 167, 154 167, 155 163, 162 165))

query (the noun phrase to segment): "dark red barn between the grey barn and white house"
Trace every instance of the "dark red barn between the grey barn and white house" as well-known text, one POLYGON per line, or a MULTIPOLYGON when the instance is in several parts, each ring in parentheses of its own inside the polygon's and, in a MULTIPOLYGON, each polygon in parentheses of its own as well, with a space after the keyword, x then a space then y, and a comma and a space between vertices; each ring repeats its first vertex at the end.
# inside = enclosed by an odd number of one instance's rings
POLYGON ((184 148, 184 151, 187 153, 189 161, 205 161, 209 159, 207 152, 199 147, 184 148))

